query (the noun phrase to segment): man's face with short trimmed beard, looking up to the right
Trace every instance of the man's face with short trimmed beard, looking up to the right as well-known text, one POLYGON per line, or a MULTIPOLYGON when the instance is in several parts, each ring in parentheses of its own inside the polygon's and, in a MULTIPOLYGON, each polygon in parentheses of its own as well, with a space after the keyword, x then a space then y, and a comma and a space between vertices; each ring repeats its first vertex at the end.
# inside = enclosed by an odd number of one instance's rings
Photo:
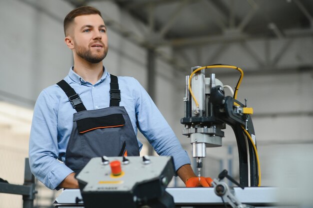
POLYGON ((71 27, 73 52, 90 63, 102 61, 108 50, 103 19, 98 14, 76 16, 71 27))

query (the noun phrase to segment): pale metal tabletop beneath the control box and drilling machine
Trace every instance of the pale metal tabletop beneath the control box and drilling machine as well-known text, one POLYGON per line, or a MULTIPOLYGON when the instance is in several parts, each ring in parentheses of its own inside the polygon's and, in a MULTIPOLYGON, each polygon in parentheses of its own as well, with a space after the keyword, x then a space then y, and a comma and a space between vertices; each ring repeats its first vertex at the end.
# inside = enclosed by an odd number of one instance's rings
MULTIPOLYGON (((255 207, 274 207, 277 205, 276 192, 273 187, 246 187, 244 190, 235 187, 235 197, 243 204, 255 207)), ((213 188, 167 188, 174 198, 176 208, 212 208, 224 207, 213 188)), ((83 207, 83 202, 76 204, 75 199, 82 199, 78 189, 64 190, 54 202, 57 208, 83 207)))

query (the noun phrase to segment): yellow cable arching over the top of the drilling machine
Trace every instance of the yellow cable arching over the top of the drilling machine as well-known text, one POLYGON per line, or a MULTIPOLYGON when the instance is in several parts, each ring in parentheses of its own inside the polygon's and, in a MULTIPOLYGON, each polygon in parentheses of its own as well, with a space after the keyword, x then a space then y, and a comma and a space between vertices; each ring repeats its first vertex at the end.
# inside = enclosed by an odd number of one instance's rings
POLYGON ((190 95, 191 97, 193 98, 194 102, 195 102, 195 105, 196 107, 198 108, 199 107, 199 103, 197 102, 197 100, 195 99, 193 93, 192 93, 192 90, 191 90, 191 78, 193 76, 193 74, 195 74, 196 72, 202 70, 202 69, 208 69, 208 68, 232 68, 232 69, 236 69, 240 72, 240 78, 238 80, 238 83, 235 87, 235 91, 234 91, 234 94, 233 94, 233 98, 236 99, 237 98, 237 91, 239 89, 239 86, 240 86, 240 83, 241 83, 241 80, 242 80, 242 77, 243 77, 243 71, 242 69, 236 67, 236 66, 229 66, 229 65, 211 65, 211 66, 203 66, 203 67, 200 67, 200 68, 197 68, 196 70, 194 70, 190 76, 189 76, 189 81, 188 81, 188 88, 189 88, 189 92, 190 92, 190 95))

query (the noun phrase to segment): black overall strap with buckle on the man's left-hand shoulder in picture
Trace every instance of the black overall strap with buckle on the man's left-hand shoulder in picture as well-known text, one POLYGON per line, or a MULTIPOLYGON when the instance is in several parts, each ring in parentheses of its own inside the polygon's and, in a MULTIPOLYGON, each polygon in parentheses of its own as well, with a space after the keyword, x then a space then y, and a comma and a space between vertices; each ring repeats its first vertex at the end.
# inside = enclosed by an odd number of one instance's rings
POLYGON ((56 84, 65 92, 70 104, 77 112, 86 110, 85 106, 81 102, 79 95, 75 92, 75 90, 71 86, 69 86, 67 82, 65 82, 65 80, 62 79, 56 84))

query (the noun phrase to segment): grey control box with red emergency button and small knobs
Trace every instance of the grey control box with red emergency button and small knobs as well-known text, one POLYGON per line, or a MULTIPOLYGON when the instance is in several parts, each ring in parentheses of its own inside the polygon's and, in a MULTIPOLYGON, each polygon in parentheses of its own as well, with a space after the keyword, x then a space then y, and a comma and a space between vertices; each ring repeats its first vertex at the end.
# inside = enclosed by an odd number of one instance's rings
POLYGON ((76 179, 85 208, 173 208, 165 192, 173 175, 171 157, 103 156, 92 158, 76 179))

